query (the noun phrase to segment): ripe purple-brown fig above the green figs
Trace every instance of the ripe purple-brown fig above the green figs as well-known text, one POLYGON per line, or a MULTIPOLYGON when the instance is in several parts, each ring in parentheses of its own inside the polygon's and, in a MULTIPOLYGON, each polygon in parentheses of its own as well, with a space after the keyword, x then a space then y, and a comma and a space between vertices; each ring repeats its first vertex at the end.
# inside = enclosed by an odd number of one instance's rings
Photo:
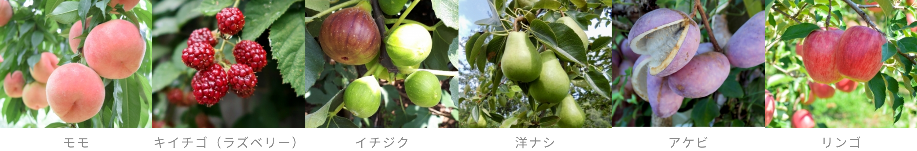
POLYGON ((329 15, 322 23, 318 42, 328 57, 347 65, 362 65, 379 54, 381 37, 372 6, 359 2, 329 15))

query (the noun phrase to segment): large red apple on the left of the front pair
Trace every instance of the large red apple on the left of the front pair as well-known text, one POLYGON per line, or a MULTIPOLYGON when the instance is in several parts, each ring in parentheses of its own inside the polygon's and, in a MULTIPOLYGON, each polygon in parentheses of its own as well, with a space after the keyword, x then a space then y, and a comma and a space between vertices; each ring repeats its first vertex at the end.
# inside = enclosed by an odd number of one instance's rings
POLYGON ((805 38, 802 44, 802 49, 805 51, 802 63, 809 71, 812 81, 826 84, 843 79, 837 72, 834 59, 834 49, 837 48, 843 34, 844 30, 818 29, 809 33, 809 36, 805 38))

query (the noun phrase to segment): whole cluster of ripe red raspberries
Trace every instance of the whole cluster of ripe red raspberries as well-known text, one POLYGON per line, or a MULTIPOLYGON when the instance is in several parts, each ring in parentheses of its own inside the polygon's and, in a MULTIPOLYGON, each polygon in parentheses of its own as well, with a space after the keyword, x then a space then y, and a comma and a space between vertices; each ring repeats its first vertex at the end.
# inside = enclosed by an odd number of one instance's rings
MULTIPOLYGON (((245 27, 245 16, 235 7, 224 8, 216 14, 216 20, 219 33, 223 35, 236 35, 245 27)), ((182 51, 184 64, 198 70, 191 81, 193 97, 199 104, 208 107, 226 96, 230 88, 239 97, 249 98, 258 84, 255 72, 268 64, 267 52, 252 40, 239 41, 233 48, 236 64, 229 65, 226 59, 216 59, 215 54, 222 54, 221 50, 214 49, 217 37, 219 35, 209 28, 196 29, 188 38, 188 48, 182 51)))

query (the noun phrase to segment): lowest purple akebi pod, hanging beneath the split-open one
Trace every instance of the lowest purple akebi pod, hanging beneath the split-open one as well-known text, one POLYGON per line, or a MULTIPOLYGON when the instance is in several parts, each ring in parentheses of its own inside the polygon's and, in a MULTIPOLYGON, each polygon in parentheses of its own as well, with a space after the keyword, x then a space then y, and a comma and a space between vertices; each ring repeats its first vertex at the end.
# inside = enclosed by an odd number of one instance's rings
POLYGON ((677 113, 685 99, 668 88, 668 77, 646 76, 646 94, 653 113, 661 118, 677 113))

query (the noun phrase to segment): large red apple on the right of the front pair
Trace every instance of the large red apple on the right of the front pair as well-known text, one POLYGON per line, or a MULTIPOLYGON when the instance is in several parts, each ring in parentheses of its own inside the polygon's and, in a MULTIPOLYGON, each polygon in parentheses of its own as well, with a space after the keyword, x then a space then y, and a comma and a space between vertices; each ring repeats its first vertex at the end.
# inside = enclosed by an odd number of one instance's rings
POLYGON ((872 28, 847 28, 835 51, 838 72, 851 81, 872 80, 878 70, 882 69, 882 45, 886 41, 881 33, 872 28))

